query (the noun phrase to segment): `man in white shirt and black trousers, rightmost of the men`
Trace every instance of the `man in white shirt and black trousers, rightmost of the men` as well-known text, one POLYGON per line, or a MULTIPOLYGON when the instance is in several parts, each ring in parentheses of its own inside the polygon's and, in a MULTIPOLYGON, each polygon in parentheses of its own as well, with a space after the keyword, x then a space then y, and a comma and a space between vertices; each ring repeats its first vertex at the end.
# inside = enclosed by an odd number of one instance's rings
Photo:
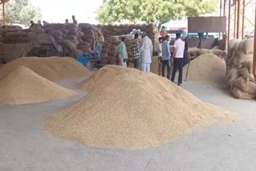
POLYGON ((178 85, 182 85, 182 68, 184 63, 185 43, 181 39, 181 34, 176 34, 176 41, 174 42, 174 72, 171 76, 171 82, 174 82, 175 75, 178 70, 178 85))

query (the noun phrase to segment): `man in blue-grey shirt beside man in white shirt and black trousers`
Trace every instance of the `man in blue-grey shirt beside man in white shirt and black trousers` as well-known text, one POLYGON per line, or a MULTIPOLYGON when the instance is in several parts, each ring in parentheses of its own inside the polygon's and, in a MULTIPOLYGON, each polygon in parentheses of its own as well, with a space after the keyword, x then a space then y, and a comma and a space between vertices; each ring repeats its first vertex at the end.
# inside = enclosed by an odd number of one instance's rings
POLYGON ((165 41, 162 42, 162 77, 165 77, 165 71, 167 66, 167 78, 170 80, 170 36, 166 35, 165 41))

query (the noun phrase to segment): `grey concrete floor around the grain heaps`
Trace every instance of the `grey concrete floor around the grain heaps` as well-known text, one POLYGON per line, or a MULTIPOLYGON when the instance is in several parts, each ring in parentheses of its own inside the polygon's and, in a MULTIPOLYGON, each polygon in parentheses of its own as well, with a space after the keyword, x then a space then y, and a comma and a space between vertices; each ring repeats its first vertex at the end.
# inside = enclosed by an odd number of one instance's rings
MULTIPOLYGON (((60 82, 67 87, 73 83, 60 82)), ((0 171, 254 171, 255 101, 235 100, 216 85, 186 82, 183 87, 204 101, 240 113, 242 119, 190 133, 157 149, 113 150, 62 141, 45 132, 46 117, 78 101, 82 92, 62 101, 1 105, 0 171)))

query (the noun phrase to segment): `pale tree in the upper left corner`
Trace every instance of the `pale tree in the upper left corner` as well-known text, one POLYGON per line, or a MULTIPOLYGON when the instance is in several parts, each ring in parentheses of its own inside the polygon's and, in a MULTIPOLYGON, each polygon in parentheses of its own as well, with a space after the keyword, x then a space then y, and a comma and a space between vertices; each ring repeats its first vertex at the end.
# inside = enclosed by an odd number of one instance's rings
MULTIPOLYGON (((0 9, 2 14, 2 8, 0 9)), ((30 26, 30 20, 42 18, 40 9, 33 6, 30 0, 10 0, 6 3, 6 23, 30 26)))

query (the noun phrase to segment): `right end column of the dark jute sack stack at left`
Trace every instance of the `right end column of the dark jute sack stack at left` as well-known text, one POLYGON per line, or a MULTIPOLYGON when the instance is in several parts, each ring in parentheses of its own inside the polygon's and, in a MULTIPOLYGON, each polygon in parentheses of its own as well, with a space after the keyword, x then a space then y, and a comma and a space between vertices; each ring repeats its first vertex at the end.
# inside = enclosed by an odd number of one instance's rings
POLYGON ((82 42, 78 45, 80 50, 90 52, 90 50, 96 49, 97 44, 104 42, 102 30, 98 27, 87 23, 80 23, 78 27, 81 30, 82 38, 82 42))

